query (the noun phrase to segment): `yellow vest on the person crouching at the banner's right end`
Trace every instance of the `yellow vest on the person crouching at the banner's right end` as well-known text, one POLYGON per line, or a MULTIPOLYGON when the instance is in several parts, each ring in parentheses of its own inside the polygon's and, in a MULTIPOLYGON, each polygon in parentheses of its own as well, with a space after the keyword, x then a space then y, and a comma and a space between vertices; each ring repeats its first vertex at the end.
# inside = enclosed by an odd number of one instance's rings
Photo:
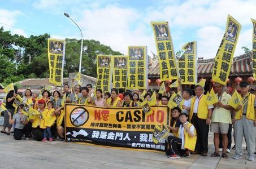
MULTIPOLYGON (((190 128, 192 125, 193 124, 188 122, 188 128, 190 128)), ((178 131, 178 136, 180 136, 180 128, 179 128, 179 131, 178 131)), ((184 128, 184 141, 185 141, 184 148, 194 152, 194 148, 196 147, 196 143, 197 143, 196 128, 194 128, 194 137, 190 137, 188 135, 188 132, 184 128)))

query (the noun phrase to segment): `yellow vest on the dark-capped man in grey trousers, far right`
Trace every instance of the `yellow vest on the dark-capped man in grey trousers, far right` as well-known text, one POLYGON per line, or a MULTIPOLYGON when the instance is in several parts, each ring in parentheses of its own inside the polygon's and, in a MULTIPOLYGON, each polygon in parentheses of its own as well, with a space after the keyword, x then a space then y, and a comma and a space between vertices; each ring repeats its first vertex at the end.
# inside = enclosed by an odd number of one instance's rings
MULTIPOLYGON (((255 101, 255 95, 249 94, 248 96, 248 104, 246 109, 246 118, 255 120, 255 110, 254 110, 254 101, 255 101)), ((242 112, 244 111, 244 106, 236 112, 235 119, 239 120, 242 117, 242 112)))

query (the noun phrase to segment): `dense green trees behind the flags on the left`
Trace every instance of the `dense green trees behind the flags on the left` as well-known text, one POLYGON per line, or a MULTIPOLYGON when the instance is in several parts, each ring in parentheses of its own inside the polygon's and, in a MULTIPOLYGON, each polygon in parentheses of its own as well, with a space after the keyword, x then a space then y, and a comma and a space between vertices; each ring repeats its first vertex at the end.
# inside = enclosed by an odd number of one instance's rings
MULTIPOLYGON (((9 84, 25 78, 49 78, 49 63, 47 56, 47 39, 49 34, 12 35, 10 31, 0 28, 0 82, 9 84), (29 63, 31 57, 31 63, 29 63)), ((64 77, 69 73, 79 71, 81 40, 66 39, 66 56, 64 63, 64 77)), ((122 55, 113 51, 109 46, 99 41, 84 40, 81 73, 97 76, 97 55, 122 55)))

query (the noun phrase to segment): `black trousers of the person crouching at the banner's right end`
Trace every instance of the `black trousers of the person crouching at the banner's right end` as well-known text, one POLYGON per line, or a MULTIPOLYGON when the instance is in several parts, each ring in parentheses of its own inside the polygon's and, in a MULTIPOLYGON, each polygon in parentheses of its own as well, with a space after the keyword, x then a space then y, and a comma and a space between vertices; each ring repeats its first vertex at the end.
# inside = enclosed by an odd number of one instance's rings
POLYGON ((166 155, 171 155, 171 154, 181 154, 181 145, 182 145, 182 140, 178 137, 175 136, 168 136, 167 139, 168 143, 168 149, 166 151, 166 155))

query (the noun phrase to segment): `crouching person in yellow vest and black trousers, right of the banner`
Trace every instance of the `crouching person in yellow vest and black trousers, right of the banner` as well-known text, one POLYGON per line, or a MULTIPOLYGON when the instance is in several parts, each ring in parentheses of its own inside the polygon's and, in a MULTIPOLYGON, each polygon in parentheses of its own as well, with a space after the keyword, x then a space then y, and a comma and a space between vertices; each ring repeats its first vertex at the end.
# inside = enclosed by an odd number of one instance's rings
POLYGON ((178 137, 168 136, 168 144, 171 145, 168 158, 180 158, 180 155, 190 157, 189 151, 194 151, 197 142, 196 129, 188 122, 188 114, 180 113, 180 125, 178 137))

